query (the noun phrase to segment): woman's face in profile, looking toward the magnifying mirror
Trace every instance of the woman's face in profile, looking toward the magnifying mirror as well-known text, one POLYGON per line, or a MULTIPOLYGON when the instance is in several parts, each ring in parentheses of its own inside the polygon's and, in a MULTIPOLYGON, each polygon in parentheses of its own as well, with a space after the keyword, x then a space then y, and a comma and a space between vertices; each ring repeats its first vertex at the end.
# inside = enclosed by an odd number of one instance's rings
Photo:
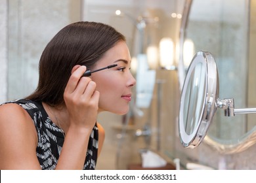
POLYGON ((136 80, 130 72, 131 56, 124 41, 119 41, 110 48, 94 69, 112 64, 117 66, 91 75, 92 80, 96 82, 96 90, 100 92, 98 110, 126 114, 132 97, 131 89, 136 80))

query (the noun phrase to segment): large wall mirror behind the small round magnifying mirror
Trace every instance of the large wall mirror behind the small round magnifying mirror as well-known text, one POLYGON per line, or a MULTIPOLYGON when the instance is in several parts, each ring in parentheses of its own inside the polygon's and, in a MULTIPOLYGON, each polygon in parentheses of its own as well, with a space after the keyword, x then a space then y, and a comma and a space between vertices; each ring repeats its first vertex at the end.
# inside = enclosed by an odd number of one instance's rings
MULTIPOLYGON (((253 50, 249 46, 254 45, 251 41, 251 44, 248 43, 253 35, 249 27, 249 24, 253 25, 249 18, 254 11, 251 4, 249 0, 186 0, 186 5, 189 5, 186 9, 188 17, 183 23, 184 30, 181 30, 184 35, 183 43, 189 39, 194 42, 194 50, 209 50, 217 58, 221 78, 219 94, 223 98, 232 95, 239 107, 256 105, 256 87, 253 86, 255 81, 252 79, 255 78, 255 64, 253 52, 248 52, 253 50)), ((182 50, 181 58, 185 61, 182 50)), ((222 153, 238 152, 234 148, 253 136, 256 125, 253 115, 227 118, 223 115, 223 110, 217 110, 205 142, 222 153)), ((242 149, 245 148, 240 148, 239 151, 242 149)))

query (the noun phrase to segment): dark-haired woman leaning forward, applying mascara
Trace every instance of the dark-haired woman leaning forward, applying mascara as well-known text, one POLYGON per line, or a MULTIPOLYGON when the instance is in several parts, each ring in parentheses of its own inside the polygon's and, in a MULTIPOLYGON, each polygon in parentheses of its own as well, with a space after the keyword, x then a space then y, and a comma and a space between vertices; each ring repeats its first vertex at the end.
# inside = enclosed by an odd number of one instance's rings
POLYGON ((128 112, 130 65, 113 27, 76 22, 60 30, 41 55, 35 92, 0 106, 0 169, 95 169, 104 141, 96 116, 128 112))

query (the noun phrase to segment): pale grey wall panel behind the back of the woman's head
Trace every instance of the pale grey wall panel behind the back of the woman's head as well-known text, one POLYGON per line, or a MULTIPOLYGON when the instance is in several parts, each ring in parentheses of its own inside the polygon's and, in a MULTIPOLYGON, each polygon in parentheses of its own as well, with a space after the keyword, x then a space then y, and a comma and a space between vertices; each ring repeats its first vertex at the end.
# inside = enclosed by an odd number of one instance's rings
POLYGON ((79 20, 80 1, 9 0, 7 99, 25 97, 37 86, 46 44, 62 27, 79 20), (73 9, 75 7, 76 10, 73 9), (43 15, 43 16, 42 16, 43 15), (51 21, 50 21, 51 20, 51 21))

